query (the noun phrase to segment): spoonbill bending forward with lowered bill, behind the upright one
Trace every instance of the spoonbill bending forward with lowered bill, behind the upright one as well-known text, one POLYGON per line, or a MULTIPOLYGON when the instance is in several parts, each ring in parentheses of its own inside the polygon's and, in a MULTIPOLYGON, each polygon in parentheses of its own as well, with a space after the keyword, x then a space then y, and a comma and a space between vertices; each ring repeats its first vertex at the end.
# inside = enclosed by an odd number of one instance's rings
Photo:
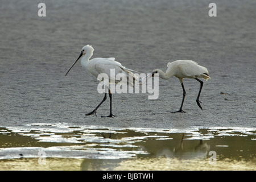
POLYGON ((140 82, 144 82, 144 80, 147 80, 150 77, 154 77, 155 73, 158 73, 159 77, 165 80, 173 76, 176 76, 177 78, 179 78, 182 89, 183 89, 183 98, 182 98, 180 109, 173 113, 176 113, 176 112, 185 113, 185 111, 182 110, 183 102, 186 95, 185 88, 183 85, 183 78, 195 78, 197 81, 200 82, 200 90, 196 98, 196 103, 200 107, 200 109, 203 110, 200 105, 201 101, 199 101, 199 97, 200 97, 200 93, 203 88, 204 82, 199 80, 199 78, 204 78, 204 80, 210 79, 207 68, 202 67, 198 65, 195 61, 191 61, 191 60, 177 60, 172 63, 168 63, 167 67, 168 68, 165 73, 161 69, 154 69, 154 71, 150 75, 142 78, 140 82))

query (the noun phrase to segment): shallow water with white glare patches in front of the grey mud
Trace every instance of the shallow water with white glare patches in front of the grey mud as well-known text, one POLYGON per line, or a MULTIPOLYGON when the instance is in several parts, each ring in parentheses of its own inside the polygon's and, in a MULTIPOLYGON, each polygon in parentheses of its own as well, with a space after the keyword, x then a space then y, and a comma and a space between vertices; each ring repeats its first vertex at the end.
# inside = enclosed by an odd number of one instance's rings
POLYGON ((255 170, 256 130, 0 128, 1 170, 255 170))

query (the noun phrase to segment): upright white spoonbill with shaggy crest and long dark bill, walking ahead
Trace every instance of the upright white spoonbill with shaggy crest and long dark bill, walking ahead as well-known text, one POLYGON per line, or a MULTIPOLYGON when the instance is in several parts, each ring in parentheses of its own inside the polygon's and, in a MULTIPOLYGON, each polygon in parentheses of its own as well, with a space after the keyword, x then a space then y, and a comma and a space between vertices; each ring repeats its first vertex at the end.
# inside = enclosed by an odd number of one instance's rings
MULTIPOLYGON (((90 45, 84 46, 82 48, 82 51, 81 51, 79 57, 73 63, 72 67, 81 58, 82 67, 85 68, 86 71, 89 72, 90 74, 92 74, 93 76, 98 77, 98 75, 100 73, 105 73, 108 75, 109 82, 110 82, 110 79, 115 80, 115 78, 113 78, 113 75, 110 75, 110 69, 114 69, 115 75, 117 73, 123 73, 126 75, 127 78, 130 75, 133 78, 135 78, 135 80, 138 80, 138 78, 135 75, 133 75, 133 72, 136 72, 136 71, 133 71, 131 69, 127 69, 127 68, 123 67, 121 65, 121 63, 119 63, 118 61, 115 61, 114 57, 110 57, 110 58, 97 57, 97 58, 90 60, 90 57, 92 57, 92 55, 93 55, 93 51, 94 51, 94 49, 92 46, 90 46, 90 45)), ((69 68, 68 72, 71 70, 71 68, 69 68)), ((68 75, 68 72, 66 73, 65 76, 68 75)), ((102 81, 102 80, 100 80, 100 81, 102 81)), ((117 82, 115 82, 115 84, 117 84, 117 82)), ((98 104, 98 106, 93 111, 91 111, 90 113, 85 114, 85 115, 91 115, 91 114, 96 115, 96 111, 97 111, 98 107, 100 107, 100 105, 106 100, 107 92, 109 93, 109 98, 110 98, 110 114, 108 116, 101 116, 101 117, 114 117, 115 116, 112 114, 112 93, 110 92, 109 88, 106 88, 105 96, 104 96, 103 100, 100 102, 100 104, 98 104)))

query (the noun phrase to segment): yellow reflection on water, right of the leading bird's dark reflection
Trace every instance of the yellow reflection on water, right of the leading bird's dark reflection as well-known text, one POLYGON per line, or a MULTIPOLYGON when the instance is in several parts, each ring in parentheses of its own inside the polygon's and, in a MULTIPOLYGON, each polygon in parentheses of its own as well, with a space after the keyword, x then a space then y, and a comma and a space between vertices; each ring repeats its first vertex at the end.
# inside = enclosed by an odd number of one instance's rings
POLYGON ((171 170, 255 170, 256 164, 245 161, 230 161, 221 160, 216 164, 209 164, 208 159, 172 159, 172 158, 158 158, 158 159, 137 159, 125 160, 119 164, 114 170, 153 170, 153 171, 171 171, 171 170))

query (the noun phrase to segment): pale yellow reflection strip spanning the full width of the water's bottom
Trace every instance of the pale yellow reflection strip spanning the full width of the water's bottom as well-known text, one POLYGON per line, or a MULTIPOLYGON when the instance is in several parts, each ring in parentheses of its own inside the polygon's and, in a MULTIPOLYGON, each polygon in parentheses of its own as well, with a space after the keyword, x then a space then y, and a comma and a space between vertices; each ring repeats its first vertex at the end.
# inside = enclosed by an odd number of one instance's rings
POLYGON ((172 158, 141 158, 124 160, 99 159, 67 159, 47 158, 46 164, 38 164, 38 159, 10 159, 0 160, 0 170, 4 171, 255 171, 256 163, 253 161, 220 160, 216 164, 209 164, 208 159, 172 159, 172 158), (111 162, 110 162, 111 161, 111 162))

